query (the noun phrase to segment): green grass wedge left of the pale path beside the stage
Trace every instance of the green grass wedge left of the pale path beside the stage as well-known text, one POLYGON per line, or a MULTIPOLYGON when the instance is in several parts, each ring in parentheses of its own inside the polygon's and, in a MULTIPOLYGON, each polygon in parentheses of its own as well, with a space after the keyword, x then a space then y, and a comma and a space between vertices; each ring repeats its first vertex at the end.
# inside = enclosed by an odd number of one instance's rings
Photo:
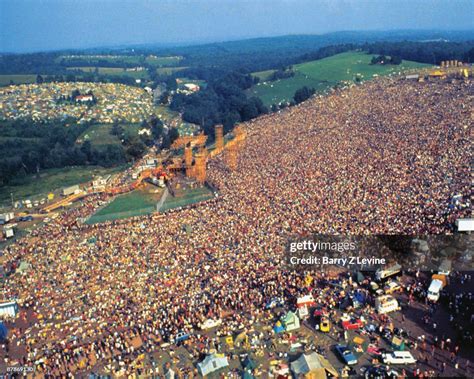
POLYGON ((92 215, 86 223, 96 224, 153 213, 156 210, 156 203, 160 200, 161 192, 152 194, 136 190, 117 196, 111 203, 92 215))

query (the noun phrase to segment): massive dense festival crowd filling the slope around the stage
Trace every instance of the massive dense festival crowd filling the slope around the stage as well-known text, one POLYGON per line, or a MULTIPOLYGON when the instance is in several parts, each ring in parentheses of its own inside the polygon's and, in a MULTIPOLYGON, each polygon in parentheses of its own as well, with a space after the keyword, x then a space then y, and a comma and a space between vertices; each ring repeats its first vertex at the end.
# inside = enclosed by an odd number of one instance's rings
POLYGON ((320 273, 285 269, 290 237, 451 232, 470 212, 470 93, 381 79, 259 118, 236 171, 209 163, 219 196, 203 205, 84 225, 104 200, 89 197, 4 251, 7 272, 32 265, 1 285, 22 309, 7 364, 131 371, 206 319, 236 332, 272 298, 316 296, 320 273))

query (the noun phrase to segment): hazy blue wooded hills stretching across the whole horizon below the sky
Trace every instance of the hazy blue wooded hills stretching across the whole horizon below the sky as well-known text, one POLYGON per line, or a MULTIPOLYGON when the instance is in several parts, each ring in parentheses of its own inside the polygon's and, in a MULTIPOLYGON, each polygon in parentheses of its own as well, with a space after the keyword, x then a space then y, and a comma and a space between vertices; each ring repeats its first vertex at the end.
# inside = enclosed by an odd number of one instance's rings
MULTIPOLYGON (((31 54, 2 54, 0 55, 0 74, 38 74, 41 75, 68 75, 67 70, 73 66, 90 67, 132 67, 151 66, 155 68, 156 62, 145 59, 146 56, 156 55, 160 57, 176 56, 182 57, 179 61, 180 67, 204 68, 213 71, 213 76, 220 75, 223 71, 243 70, 255 72, 268 70, 288 64, 300 63, 321 58, 318 51, 328 46, 352 44, 353 48, 373 43, 395 43, 412 41, 415 43, 456 42, 462 44, 465 41, 474 41, 474 30, 468 31, 346 31, 334 32, 320 35, 290 35, 280 37, 254 38, 238 41, 215 42, 191 46, 163 47, 162 45, 139 45, 120 48, 96 48, 85 50, 64 50, 45 53, 31 54), (63 55, 88 55, 88 54, 112 54, 125 55, 130 59, 127 61, 113 62, 84 62, 79 59, 77 64, 73 61, 64 61, 63 55), (140 60, 142 59, 142 60, 140 60)), ((441 47, 442 49, 445 46, 441 47)), ((459 49, 458 49, 459 50, 459 49)), ((465 49, 464 49, 465 50, 465 49)), ((327 55, 326 55, 327 56, 327 55)), ((453 57, 452 59, 461 59, 453 57)), ((170 66, 177 66, 173 62, 170 66)), ((168 66, 168 64, 167 64, 168 66)), ((159 72, 166 74, 168 71, 159 72)), ((209 74, 207 74, 209 75, 209 74)), ((195 73, 200 79, 203 73, 195 73)), ((117 80, 118 78, 115 78, 117 80)))

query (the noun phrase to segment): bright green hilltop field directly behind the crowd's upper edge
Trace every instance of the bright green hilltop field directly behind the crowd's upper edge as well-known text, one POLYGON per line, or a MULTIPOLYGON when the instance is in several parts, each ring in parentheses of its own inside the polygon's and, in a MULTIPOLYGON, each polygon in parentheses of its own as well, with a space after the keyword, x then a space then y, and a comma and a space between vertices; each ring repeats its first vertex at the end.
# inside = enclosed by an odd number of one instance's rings
MULTIPOLYGON (((407 70, 429 67, 429 65, 411 61, 403 61, 397 66, 371 65, 372 57, 373 55, 363 52, 347 52, 294 65, 293 69, 296 72, 294 77, 258 83, 247 90, 247 94, 261 98, 269 106, 282 101, 291 101, 296 90, 303 86, 313 87, 316 91, 322 92, 343 81, 353 82, 356 77, 369 80, 377 75, 398 74, 407 70)), ((271 72, 272 70, 261 71, 253 75, 266 78, 271 72)))

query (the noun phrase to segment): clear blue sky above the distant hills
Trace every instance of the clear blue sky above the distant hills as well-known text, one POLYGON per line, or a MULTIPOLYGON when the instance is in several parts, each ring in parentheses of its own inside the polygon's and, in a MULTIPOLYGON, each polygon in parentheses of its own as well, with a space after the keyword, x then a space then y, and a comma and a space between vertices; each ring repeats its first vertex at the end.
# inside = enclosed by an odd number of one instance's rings
POLYGON ((474 0, 0 0, 0 51, 473 29, 474 0))

